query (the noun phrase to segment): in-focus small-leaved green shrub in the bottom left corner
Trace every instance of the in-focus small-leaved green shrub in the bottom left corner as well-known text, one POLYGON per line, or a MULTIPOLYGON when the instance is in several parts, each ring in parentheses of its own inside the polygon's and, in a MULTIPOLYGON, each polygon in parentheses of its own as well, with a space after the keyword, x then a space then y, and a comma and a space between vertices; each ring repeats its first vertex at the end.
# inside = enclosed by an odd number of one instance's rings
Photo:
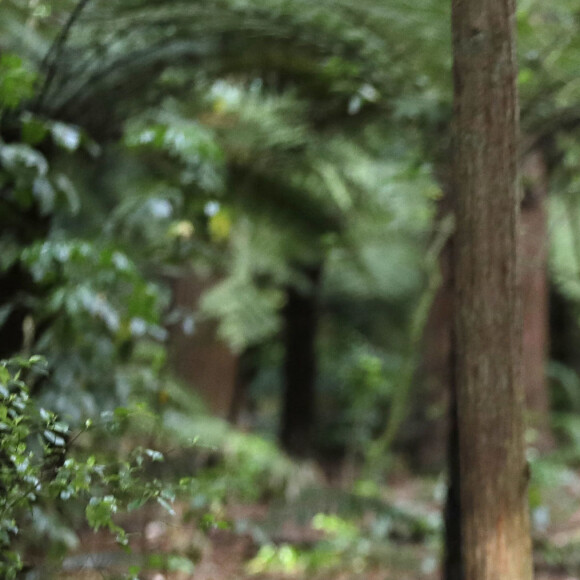
MULTIPOLYGON (((122 546, 128 545, 123 528, 114 517, 121 509, 134 509, 150 499, 173 513, 174 493, 160 482, 145 481, 142 471, 147 461, 162 461, 158 451, 136 448, 128 460, 99 461, 95 455, 79 457, 72 444, 90 431, 87 421, 82 431, 70 427, 29 395, 25 377, 47 372, 46 361, 38 356, 11 359, 0 363, 0 573, 8 580, 17 577, 23 566, 26 543, 35 534, 46 535, 49 542, 74 546, 72 530, 51 518, 50 506, 86 502, 86 520, 91 528, 107 528, 122 546)), ((120 409, 106 422, 114 429, 120 409)))

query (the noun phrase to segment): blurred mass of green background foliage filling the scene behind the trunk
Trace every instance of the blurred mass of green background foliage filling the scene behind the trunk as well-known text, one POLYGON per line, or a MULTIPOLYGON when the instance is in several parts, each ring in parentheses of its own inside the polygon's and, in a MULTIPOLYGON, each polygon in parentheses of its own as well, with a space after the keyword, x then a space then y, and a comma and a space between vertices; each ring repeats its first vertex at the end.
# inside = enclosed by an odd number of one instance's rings
MULTIPOLYGON (((336 505, 360 500, 335 520, 317 516, 331 539, 308 558, 272 548, 267 526, 252 528, 265 546, 249 564, 256 573, 347 560, 360 572, 381 560, 373 545, 415 533, 437 546, 431 515, 409 520, 363 500, 384 503, 379 476, 417 464, 417 421, 445 423, 445 394, 432 401, 420 370, 452 233, 447 5, 0 7, 0 356, 44 357, 48 372, 27 376, 27 389, 67 429, 107 413, 118 423, 112 440, 86 434, 67 454, 113 461, 107 444, 144 441, 179 449, 156 469, 181 478, 188 509, 210 527, 242 500, 302 501, 309 517, 332 511, 305 492, 321 468, 348 490, 336 505), (180 302, 191 275, 201 290, 186 288, 196 298, 180 302), (291 360, 296 300, 314 313, 315 340, 291 360), (208 328, 235 370, 212 387, 233 393, 217 418, 195 373, 176 364, 176 342, 208 328), (292 365, 313 369, 298 377, 316 402, 299 455, 318 467, 297 469, 276 446, 292 365), (129 421, 137 408, 148 418, 129 421), (347 521, 369 509, 373 522, 347 521)), ((580 457, 579 14, 578 0, 523 0, 517 21, 522 157, 541 154, 549 193, 549 237, 539 243, 549 247, 556 445, 530 456, 539 529, 549 490, 563 481, 554 474, 572 477, 580 457)), ((431 469, 437 478, 442 465, 431 469)))

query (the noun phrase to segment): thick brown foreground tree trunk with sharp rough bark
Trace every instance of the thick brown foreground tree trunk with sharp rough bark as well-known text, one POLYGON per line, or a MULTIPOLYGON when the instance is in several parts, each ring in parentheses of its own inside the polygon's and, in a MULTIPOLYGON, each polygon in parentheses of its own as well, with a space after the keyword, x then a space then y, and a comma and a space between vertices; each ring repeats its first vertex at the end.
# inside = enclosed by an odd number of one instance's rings
POLYGON ((457 420, 465 580, 532 578, 516 255, 513 0, 453 0, 457 420))

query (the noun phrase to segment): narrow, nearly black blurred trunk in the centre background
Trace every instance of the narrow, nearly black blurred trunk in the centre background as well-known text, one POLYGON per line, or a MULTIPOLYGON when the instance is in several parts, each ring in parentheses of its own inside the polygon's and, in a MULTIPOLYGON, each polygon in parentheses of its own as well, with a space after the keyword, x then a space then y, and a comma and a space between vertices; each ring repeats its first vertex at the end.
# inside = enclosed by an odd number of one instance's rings
POLYGON ((310 288, 289 288, 284 309, 284 394, 280 441, 293 455, 307 455, 315 423, 316 330, 322 268, 304 268, 310 288))

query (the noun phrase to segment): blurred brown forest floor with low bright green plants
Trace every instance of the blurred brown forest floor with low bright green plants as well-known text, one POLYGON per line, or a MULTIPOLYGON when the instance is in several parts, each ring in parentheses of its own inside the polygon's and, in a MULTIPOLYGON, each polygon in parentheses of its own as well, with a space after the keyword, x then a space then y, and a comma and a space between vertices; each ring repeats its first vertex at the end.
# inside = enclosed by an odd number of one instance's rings
MULTIPOLYGON (((576 579, 580 473, 565 470, 558 485, 541 493, 542 505, 533 512, 535 577, 576 579)), ((356 505, 363 496, 319 472, 315 484, 294 498, 226 499, 203 515, 195 499, 177 502, 174 515, 145 507, 119 522, 130 552, 104 531, 81 530, 78 549, 65 558, 57 577, 435 580, 441 576, 443 494, 441 478, 401 473, 381 487, 382 511, 373 511, 365 509, 365 498, 356 505)))

